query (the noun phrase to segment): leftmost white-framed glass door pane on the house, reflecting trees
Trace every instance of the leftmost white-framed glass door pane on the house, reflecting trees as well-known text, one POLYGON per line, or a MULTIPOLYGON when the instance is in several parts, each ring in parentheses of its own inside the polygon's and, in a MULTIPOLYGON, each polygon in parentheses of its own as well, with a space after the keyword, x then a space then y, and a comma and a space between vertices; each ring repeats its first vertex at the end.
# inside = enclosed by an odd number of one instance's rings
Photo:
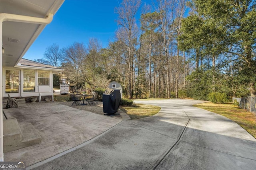
POLYGON ((20 96, 20 70, 5 70, 4 96, 20 96))

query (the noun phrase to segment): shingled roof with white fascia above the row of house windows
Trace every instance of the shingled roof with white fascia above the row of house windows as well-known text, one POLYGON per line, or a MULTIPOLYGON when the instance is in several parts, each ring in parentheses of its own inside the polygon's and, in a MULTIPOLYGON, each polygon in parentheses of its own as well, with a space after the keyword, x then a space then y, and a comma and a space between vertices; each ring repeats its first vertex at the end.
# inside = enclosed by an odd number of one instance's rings
POLYGON ((47 70, 63 70, 62 68, 58 68, 58 67, 55 67, 55 66, 51 66, 51 65, 48 65, 48 64, 43 64, 43 63, 38 63, 36 61, 32 61, 32 60, 28 60, 28 59, 21 59, 19 61, 19 63, 17 64, 17 67, 20 67, 20 66, 24 66, 24 67, 40 67, 40 68, 45 68, 47 70))

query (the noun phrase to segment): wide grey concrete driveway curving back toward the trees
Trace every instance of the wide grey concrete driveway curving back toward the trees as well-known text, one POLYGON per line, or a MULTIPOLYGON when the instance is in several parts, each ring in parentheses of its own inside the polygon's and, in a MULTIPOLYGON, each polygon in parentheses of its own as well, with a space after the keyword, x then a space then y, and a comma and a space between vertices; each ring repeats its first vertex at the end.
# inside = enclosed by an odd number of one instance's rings
POLYGON ((256 139, 230 119, 192 106, 200 102, 140 101, 162 109, 152 117, 122 121, 28 169, 255 169, 256 139))

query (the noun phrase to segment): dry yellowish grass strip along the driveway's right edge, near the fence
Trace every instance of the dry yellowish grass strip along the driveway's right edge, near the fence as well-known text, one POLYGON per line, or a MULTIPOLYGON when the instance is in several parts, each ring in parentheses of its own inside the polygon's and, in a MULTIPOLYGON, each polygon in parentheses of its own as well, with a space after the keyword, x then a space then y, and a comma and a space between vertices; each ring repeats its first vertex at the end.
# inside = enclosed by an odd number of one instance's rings
POLYGON ((256 115, 233 104, 213 104, 211 102, 196 104, 195 107, 223 115, 248 131, 256 138, 256 115))

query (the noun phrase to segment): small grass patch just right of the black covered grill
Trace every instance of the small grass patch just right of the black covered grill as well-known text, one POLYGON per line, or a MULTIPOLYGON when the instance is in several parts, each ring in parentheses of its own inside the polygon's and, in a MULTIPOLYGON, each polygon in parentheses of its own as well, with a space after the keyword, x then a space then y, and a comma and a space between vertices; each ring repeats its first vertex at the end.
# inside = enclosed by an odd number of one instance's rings
POLYGON ((126 112, 131 119, 140 119, 155 115, 160 111, 161 107, 145 105, 145 104, 132 104, 132 106, 122 106, 121 110, 126 112))

